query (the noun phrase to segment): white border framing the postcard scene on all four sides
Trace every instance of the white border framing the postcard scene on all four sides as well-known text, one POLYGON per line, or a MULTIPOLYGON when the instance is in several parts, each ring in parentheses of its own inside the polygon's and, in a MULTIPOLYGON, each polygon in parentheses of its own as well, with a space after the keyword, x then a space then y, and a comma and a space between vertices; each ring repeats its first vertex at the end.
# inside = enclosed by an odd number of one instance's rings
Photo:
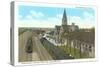
POLYGON ((55 4, 55 3, 34 3, 34 2, 14 2, 14 65, 33 65, 33 64, 51 64, 51 63, 64 63, 64 62, 84 62, 84 61, 96 61, 98 59, 97 55, 97 7, 94 5, 80 5, 80 4, 55 4), (91 7, 95 9, 95 58, 90 59, 69 59, 69 60, 53 60, 53 61, 40 61, 40 62, 18 62, 18 25, 17 25, 17 17, 18 17, 18 5, 28 5, 28 6, 46 6, 46 7, 91 7))

